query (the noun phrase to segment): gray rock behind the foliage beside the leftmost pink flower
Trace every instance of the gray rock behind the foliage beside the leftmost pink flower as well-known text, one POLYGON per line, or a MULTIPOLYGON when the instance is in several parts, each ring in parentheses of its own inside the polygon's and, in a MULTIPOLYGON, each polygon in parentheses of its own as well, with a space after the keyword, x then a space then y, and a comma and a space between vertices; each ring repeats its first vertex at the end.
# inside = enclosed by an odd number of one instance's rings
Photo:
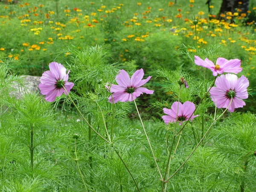
POLYGON ((20 99, 25 92, 28 93, 40 93, 38 85, 40 84, 40 76, 20 76, 24 80, 24 86, 21 87, 18 83, 13 84, 12 87, 16 91, 12 91, 11 94, 17 99, 20 99))

